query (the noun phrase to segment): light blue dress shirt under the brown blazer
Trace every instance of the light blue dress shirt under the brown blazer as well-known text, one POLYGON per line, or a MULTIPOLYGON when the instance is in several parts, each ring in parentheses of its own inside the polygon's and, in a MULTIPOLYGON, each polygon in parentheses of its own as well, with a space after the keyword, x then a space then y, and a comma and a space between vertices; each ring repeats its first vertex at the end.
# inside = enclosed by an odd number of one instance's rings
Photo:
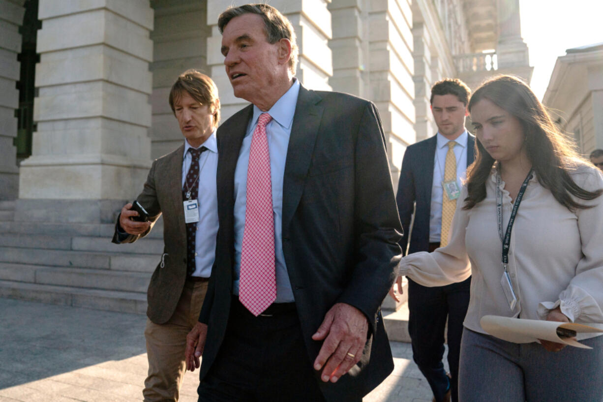
MULTIPOLYGON (((216 256, 216 235, 218 234, 218 196, 216 193, 216 173, 218 171, 218 145, 216 132, 200 145, 207 151, 199 158, 199 191, 197 205, 199 222, 195 234, 195 272, 192 276, 209 278, 212 273, 213 260, 216 256)), ((191 167, 192 156, 188 152, 188 141, 185 140, 185 154, 182 161, 182 186, 185 185, 186 173, 191 167)), ((176 196, 176 194, 174 195, 176 196)), ((166 239, 169 241, 169 239, 166 239)))

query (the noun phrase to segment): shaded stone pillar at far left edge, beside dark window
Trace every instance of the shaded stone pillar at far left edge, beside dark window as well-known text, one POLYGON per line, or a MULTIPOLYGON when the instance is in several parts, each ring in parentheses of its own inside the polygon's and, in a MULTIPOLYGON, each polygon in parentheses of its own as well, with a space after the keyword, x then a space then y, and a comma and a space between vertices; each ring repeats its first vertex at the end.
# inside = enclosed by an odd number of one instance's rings
POLYGON ((13 139, 17 135, 15 110, 19 107, 19 62, 25 0, 0 0, 0 200, 17 197, 19 169, 13 139))

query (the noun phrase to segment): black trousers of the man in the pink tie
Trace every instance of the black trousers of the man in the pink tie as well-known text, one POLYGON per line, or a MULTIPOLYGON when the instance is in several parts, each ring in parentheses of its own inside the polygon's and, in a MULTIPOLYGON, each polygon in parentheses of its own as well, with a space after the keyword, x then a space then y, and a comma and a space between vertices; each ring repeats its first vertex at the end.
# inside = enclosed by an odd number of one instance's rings
POLYGON ((198 402, 325 402, 312 363, 294 303, 272 304, 256 317, 233 296, 198 402))

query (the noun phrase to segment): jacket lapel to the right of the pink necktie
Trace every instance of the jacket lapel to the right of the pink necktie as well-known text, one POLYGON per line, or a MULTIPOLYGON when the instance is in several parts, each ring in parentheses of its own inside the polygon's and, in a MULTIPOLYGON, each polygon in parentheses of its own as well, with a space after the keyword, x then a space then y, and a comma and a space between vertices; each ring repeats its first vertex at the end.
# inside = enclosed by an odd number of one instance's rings
POLYGON ((324 106, 319 104, 321 100, 322 98, 314 91, 300 87, 283 177, 283 236, 289 233, 289 223, 300 202, 308 176, 312 152, 324 112, 324 106))

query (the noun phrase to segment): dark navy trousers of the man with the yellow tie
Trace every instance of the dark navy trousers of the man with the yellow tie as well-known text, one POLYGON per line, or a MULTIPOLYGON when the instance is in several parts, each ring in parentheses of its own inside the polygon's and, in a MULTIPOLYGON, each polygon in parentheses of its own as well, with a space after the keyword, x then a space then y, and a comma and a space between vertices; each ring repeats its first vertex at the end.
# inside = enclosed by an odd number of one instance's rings
POLYGON ((452 401, 458 401, 458 365, 463 336, 463 321, 469 306, 471 278, 447 286, 426 287, 408 278, 408 332, 412 358, 427 379, 436 402, 452 389, 452 401), (444 330, 448 319, 448 364, 446 375, 444 330))

